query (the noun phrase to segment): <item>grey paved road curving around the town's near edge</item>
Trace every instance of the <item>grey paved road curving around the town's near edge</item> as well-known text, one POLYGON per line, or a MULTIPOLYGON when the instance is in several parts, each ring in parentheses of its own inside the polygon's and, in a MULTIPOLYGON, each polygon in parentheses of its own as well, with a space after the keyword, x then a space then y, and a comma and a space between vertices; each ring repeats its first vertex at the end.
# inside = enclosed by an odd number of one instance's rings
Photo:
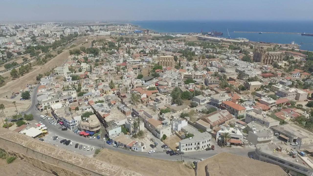
MULTIPOLYGON (((34 89, 33 89, 33 95, 31 97, 31 105, 29 106, 28 110, 25 111, 26 114, 33 114, 34 116, 34 120, 36 120, 37 122, 43 122, 47 127, 48 127, 48 131, 50 135, 56 135, 59 136, 61 138, 65 138, 68 140, 71 140, 75 143, 79 143, 79 144, 83 144, 83 145, 90 145, 96 148, 108 148, 111 150, 117 150, 119 152, 122 153, 126 153, 126 154, 131 154, 131 155, 136 155, 136 156, 141 156, 141 157, 150 157, 150 158, 156 158, 156 159, 165 159, 165 160, 172 160, 172 161, 176 161, 176 160, 181 160, 181 158, 185 161, 195 161, 195 160, 200 160, 200 159, 206 159, 209 158, 213 155, 216 155, 220 152, 228 152, 228 153, 234 153, 234 154, 238 154, 244 157, 248 157, 248 153, 254 153, 255 148, 254 147, 247 147, 247 148, 236 148, 236 147, 232 147, 232 148, 220 148, 218 147, 215 142, 212 142, 212 145, 215 145, 215 150, 202 150, 202 151, 197 151, 197 152, 187 152, 185 153, 182 157, 180 155, 177 156, 170 156, 167 155, 164 152, 156 152, 153 154, 148 154, 148 153, 138 153, 138 152, 133 152, 133 151, 129 151, 129 150, 125 150, 123 148, 114 148, 113 145, 108 145, 105 144, 104 142, 102 142, 102 140, 98 140, 98 139, 93 139, 93 140, 89 140, 88 138, 85 137, 81 137, 77 134, 75 134, 74 132, 67 130, 67 131, 61 131, 61 129, 59 129, 59 125, 58 126, 53 126, 50 125, 49 121, 47 119, 43 120, 40 118, 40 112, 35 110, 35 105, 37 104, 37 90, 38 90, 39 85, 37 85, 34 89)), ((50 137, 51 138, 51 137, 50 137)), ((56 145, 56 144, 55 144, 56 145)), ((63 145, 59 145, 59 147, 62 147, 63 145)), ((147 150, 150 150, 150 146, 147 145, 147 150)), ((159 146, 158 146, 159 147, 159 146)), ((161 148, 161 147, 160 147, 161 148)))

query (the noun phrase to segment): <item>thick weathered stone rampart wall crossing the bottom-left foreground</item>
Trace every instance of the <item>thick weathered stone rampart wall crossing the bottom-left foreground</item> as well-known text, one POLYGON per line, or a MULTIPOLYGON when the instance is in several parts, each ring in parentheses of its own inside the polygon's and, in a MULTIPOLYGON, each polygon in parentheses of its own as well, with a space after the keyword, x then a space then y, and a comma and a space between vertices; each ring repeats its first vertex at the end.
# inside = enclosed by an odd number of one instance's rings
POLYGON ((0 128, 0 148, 41 170, 59 176, 143 175, 5 128, 0 128))

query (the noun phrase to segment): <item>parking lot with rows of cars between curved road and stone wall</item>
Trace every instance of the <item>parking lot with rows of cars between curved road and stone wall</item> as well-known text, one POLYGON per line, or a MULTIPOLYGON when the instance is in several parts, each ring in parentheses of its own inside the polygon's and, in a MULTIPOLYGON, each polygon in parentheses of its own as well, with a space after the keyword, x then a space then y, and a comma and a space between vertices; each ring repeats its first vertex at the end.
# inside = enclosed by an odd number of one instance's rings
POLYGON ((54 136, 53 134, 48 134, 48 135, 45 135, 43 137, 43 139, 45 140, 45 142, 49 142, 50 144, 55 145, 57 147, 65 148, 65 149, 71 150, 71 151, 73 151, 75 153, 80 153, 80 154, 83 154, 83 155, 86 155, 86 156, 90 156, 91 157, 95 153, 95 149, 96 149, 95 146, 92 146, 92 145, 89 145, 89 144, 82 144, 82 143, 79 143, 79 142, 76 142, 76 141, 72 141, 71 139, 67 139, 67 140, 71 140, 71 142, 74 142, 73 145, 72 146, 65 145, 63 143, 60 143, 60 141, 64 139, 63 137, 58 136, 58 137, 60 137, 59 141, 56 141, 56 140, 53 140, 53 136, 54 136), (76 143, 78 143, 78 147, 77 148, 75 148, 75 144, 76 143), (82 149, 79 149, 80 145, 83 145, 82 149), (86 146, 86 150, 83 149, 84 146, 86 146), (87 147, 88 146, 90 146, 90 151, 87 151, 87 147), (91 150, 91 148, 93 148, 93 149, 91 150))

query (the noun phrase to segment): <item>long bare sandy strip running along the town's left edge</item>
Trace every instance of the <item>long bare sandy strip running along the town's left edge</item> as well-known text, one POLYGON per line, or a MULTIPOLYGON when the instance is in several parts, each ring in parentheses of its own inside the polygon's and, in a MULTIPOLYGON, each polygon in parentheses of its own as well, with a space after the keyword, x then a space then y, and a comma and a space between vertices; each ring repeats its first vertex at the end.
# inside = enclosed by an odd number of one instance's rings
MULTIPOLYGON (((89 42, 86 44, 81 45, 82 42, 85 41, 87 38, 82 38, 76 41, 74 44, 80 44, 77 45, 76 47, 73 47, 71 49, 79 49, 81 46, 85 46, 86 48, 90 46, 91 40, 88 40, 89 42)), ((24 76, 20 77, 19 79, 13 80, 8 82, 6 85, 0 87, 0 94, 1 97, 6 96, 6 95, 12 95, 12 92, 17 92, 21 89, 24 89, 27 85, 27 83, 35 83, 36 82, 36 76, 41 73, 43 74, 44 72, 52 69, 54 66, 60 66, 64 64, 64 62, 67 60, 69 56, 69 49, 64 49, 63 52, 53 59, 49 60, 45 65, 42 66, 34 66, 33 69, 25 74, 24 76)))

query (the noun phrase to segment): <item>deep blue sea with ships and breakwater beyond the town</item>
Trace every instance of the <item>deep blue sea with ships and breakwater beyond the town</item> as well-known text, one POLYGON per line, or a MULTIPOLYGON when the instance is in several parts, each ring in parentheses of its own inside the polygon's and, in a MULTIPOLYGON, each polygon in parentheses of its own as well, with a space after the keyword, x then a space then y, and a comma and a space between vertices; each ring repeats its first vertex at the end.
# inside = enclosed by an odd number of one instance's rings
POLYGON ((248 32, 293 32, 313 34, 313 21, 131 21, 131 24, 141 28, 151 29, 161 33, 190 33, 209 31, 223 32, 231 38, 247 38, 251 41, 273 42, 289 44, 294 41, 300 44, 300 49, 313 51, 313 36, 300 34, 258 34, 258 33, 234 33, 234 31, 248 32))

